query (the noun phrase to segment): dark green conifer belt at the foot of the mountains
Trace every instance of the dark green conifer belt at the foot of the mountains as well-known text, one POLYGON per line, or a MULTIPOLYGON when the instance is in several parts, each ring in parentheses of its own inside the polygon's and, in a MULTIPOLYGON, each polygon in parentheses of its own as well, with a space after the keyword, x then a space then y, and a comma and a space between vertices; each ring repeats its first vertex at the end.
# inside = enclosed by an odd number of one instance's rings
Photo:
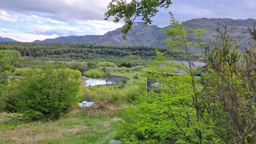
POLYGON ((150 58, 156 56, 154 53, 156 49, 158 49, 160 52, 165 52, 169 48, 135 45, 117 46, 94 44, 38 44, 22 42, 0 42, 0 50, 16 50, 21 54, 22 57, 69 57, 70 59, 93 59, 136 56, 142 58, 150 58))

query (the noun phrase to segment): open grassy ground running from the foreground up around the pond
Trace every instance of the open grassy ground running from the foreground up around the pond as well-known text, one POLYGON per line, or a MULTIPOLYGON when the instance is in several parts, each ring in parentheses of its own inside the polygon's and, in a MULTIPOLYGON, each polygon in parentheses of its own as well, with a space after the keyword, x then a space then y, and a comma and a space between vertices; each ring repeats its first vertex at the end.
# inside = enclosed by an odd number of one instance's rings
MULTIPOLYGON (((14 75, 26 75, 27 69, 17 69, 14 75)), ((111 76, 123 77, 125 82, 91 87, 81 84, 78 101, 94 101, 95 105, 73 106, 56 121, 27 122, 22 120, 22 114, 0 113, 0 143, 109 143, 123 122, 119 111, 136 99, 145 82, 140 71, 126 69, 129 70, 108 70, 111 76)))

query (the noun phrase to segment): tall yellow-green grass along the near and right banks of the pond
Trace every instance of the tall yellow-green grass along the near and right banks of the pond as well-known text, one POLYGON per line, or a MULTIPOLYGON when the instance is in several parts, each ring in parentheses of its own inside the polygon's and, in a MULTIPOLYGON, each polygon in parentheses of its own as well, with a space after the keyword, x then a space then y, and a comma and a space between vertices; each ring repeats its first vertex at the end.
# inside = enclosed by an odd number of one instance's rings
POLYGON ((110 72, 112 76, 119 76, 127 78, 125 84, 122 82, 108 85, 97 85, 97 86, 81 86, 80 94, 81 100, 86 99, 87 101, 108 101, 114 104, 123 104, 131 102, 131 100, 136 99, 136 96, 140 92, 140 85, 144 85, 145 78, 140 76, 138 71, 115 71, 110 72), (135 79, 134 76, 138 76, 138 79, 135 79))

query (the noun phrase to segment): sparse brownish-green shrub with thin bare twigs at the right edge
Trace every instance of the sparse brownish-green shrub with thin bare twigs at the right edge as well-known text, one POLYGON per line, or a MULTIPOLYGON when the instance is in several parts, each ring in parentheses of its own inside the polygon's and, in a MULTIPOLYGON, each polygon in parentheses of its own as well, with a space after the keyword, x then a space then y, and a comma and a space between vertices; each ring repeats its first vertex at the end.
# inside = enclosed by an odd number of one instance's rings
POLYGON ((205 50, 209 73, 202 79, 203 105, 214 122, 212 130, 226 143, 253 143, 255 50, 248 48, 241 54, 227 25, 216 32, 216 42, 205 50))

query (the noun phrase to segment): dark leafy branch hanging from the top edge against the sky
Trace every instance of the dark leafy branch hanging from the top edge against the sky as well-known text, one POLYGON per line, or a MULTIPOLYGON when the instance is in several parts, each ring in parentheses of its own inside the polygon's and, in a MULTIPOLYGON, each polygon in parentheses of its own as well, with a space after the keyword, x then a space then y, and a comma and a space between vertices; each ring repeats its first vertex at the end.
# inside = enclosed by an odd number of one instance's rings
POLYGON ((105 12, 104 20, 108 20, 111 16, 114 17, 115 23, 120 19, 124 20, 122 27, 122 38, 126 39, 127 33, 131 30, 132 25, 137 17, 142 17, 144 23, 152 22, 151 18, 159 11, 158 8, 167 9, 172 5, 172 0, 112 0, 108 6, 108 11, 105 12))

